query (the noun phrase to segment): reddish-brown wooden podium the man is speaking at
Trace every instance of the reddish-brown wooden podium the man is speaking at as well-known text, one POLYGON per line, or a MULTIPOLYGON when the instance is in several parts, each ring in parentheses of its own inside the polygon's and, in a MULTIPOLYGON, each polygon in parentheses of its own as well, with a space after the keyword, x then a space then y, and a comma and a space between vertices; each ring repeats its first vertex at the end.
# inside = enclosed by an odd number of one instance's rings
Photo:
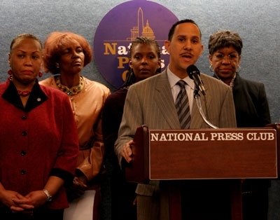
MULTIPOLYGON (((280 123, 265 128, 137 129, 127 181, 276 179, 280 123)), ((277 167, 278 166, 278 167, 277 167)), ((232 220, 242 219, 241 184, 232 188, 232 220)), ((178 209, 177 209, 178 211, 178 209)), ((169 208, 170 219, 175 211, 169 208)), ((176 220, 178 216, 176 216, 176 220)))

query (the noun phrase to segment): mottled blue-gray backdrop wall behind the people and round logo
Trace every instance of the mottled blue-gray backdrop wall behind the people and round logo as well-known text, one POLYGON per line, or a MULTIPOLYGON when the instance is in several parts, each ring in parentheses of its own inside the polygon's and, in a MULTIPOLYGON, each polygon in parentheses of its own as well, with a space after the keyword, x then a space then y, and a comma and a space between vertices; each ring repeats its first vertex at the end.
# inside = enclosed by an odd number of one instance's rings
MULTIPOLYGON (((134 0, 137 1, 137 0, 134 0)), ((138 0, 145 1, 145 0, 138 0)), ((0 81, 6 80, 10 41, 22 32, 36 34, 42 41, 53 31, 70 31, 85 36, 92 44, 99 22, 120 0, 0 0, 0 81)), ((279 0, 155 0, 179 19, 190 18, 202 29, 204 53, 197 67, 211 75, 208 67, 209 35, 218 29, 239 32, 244 41, 241 76, 265 83, 272 121, 279 121, 278 74, 280 67, 279 0)), ((90 79, 110 85, 92 62, 83 70, 90 79)), ((49 75, 48 75, 49 76, 49 75)))

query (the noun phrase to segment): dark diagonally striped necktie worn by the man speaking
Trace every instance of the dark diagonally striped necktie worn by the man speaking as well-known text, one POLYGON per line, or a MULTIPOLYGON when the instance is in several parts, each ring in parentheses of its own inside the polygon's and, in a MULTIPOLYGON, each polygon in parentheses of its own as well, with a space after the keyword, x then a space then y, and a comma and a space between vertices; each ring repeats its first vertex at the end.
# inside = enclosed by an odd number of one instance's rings
POLYGON ((180 80, 176 83, 180 86, 180 92, 176 97, 175 106, 178 113, 178 118, 181 124, 181 129, 190 128, 190 105, 188 103, 188 95, 186 92, 186 82, 180 80))

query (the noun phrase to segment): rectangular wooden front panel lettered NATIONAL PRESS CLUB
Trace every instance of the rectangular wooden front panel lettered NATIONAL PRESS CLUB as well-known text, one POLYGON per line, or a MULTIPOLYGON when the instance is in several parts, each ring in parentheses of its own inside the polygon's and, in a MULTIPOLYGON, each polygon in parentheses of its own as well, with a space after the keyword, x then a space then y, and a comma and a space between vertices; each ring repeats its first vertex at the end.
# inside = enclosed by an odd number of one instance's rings
POLYGON ((277 177, 275 130, 150 130, 149 136, 150 179, 277 177))

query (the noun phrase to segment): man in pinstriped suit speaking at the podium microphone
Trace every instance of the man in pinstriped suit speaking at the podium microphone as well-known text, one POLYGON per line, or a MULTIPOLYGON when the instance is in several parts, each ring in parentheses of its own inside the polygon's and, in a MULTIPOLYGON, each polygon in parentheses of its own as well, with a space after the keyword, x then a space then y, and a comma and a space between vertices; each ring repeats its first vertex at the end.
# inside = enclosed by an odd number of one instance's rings
MULTIPOLYGON (((162 71, 161 74, 132 85, 127 92, 123 120, 115 144, 119 162, 123 159, 127 163, 131 162, 130 144, 133 143, 134 134, 139 126, 147 125, 150 129, 181 129, 174 104, 180 90, 179 85, 176 85, 179 80, 187 83, 186 92, 191 114, 190 129, 209 128, 200 116, 197 105, 194 104, 195 83, 188 77, 186 71, 187 67, 195 64, 202 54, 203 45, 200 28, 193 20, 176 22, 169 30, 165 48, 170 55, 167 69, 162 71)), ((201 74, 201 78, 206 92, 206 95, 202 95, 201 99, 204 114, 218 128, 235 128, 235 105, 230 87, 205 74, 201 74)), ((168 181, 165 181, 165 183, 150 181, 149 184, 138 184, 138 220, 169 219, 169 198, 168 193, 166 193, 169 190, 168 185, 168 181)), ((221 189, 216 182, 189 180, 182 181, 181 186, 190 189, 182 191, 182 198, 189 198, 184 200, 182 204, 183 219, 206 218, 209 220, 211 215, 213 219, 227 219, 228 216, 223 215, 225 212, 223 207, 211 205, 216 198, 218 200, 221 198, 220 203, 222 205, 227 203, 223 201, 223 197, 217 196, 223 193, 216 192, 221 189), (214 192, 213 195, 208 194, 210 191, 211 193, 214 192)), ((228 213, 230 207, 226 207, 226 209, 228 213)))

